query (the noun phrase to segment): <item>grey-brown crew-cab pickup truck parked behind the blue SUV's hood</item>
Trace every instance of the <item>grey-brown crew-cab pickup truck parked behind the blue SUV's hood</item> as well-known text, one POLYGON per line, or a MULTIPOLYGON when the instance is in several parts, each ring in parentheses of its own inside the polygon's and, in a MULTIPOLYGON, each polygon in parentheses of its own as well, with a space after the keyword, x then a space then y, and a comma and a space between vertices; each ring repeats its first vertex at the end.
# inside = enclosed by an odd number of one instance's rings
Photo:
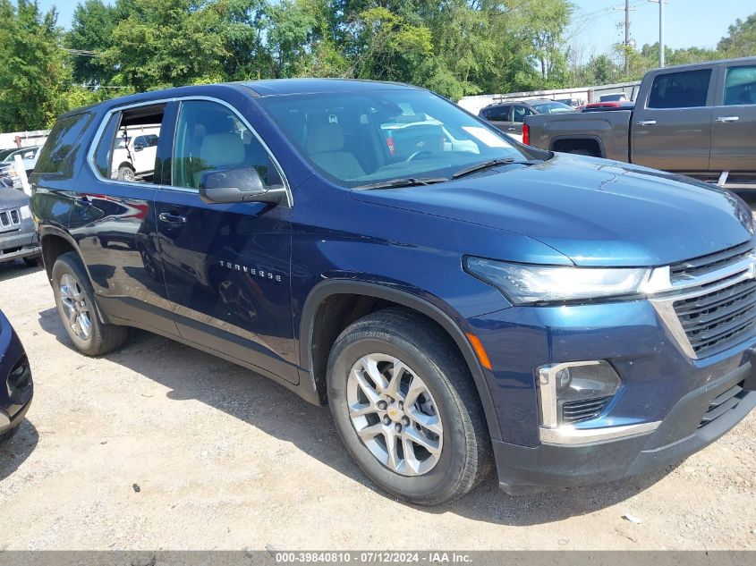
POLYGON ((756 187, 756 57, 648 72, 633 110, 525 118, 523 142, 756 187))

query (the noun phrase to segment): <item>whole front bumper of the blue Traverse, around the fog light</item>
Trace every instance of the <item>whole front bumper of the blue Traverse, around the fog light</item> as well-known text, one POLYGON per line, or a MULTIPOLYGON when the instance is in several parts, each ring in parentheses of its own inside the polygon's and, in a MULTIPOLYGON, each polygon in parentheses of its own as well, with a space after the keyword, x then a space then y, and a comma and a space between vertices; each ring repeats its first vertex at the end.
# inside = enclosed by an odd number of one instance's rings
POLYGON ((756 336, 692 359, 670 337, 648 300, 513 307, 468 322, 494 367, 485 372, 501 427, 502 440, 494 441, 493 448, 500 485, 510 494, 590 485, 658 469, 701 450, 756 406, 756 336), (622 387, 598 418, 576 427, 599 432, 657 426, 604 442, 549 444, 539 436, 535 368, 592 359, 608 360, 622 387), (724 395, 722 414, 709 413, 724 393, 733 391, 731 398, 724 395))

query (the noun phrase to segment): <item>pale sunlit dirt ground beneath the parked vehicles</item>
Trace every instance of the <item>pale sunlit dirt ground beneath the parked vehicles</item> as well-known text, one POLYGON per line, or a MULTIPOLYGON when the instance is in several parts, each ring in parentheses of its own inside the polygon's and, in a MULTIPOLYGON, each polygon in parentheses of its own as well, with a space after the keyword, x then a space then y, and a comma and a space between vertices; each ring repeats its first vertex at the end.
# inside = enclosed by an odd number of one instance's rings
POLYGON ((36 385, 0 448, 0 550, 756 549, 756 412, 649 476, 526 497, 490 479, 422 509, 361 475, 327 409, 263 377, 140 332, 81 356, 41 269, 0 266, 0 308, 36 385))

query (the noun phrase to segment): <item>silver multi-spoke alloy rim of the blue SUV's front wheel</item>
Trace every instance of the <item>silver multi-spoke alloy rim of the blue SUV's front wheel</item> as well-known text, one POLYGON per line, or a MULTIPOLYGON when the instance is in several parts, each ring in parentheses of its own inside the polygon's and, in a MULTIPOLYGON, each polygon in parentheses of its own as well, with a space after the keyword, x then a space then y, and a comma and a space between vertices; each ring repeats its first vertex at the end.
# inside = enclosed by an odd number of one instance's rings
POLYGON ((444 441, 437 404, 403 361, 363 356, 349 372, 346 400, 355 432, 386 468, 422 476, 436 466, 444 441))

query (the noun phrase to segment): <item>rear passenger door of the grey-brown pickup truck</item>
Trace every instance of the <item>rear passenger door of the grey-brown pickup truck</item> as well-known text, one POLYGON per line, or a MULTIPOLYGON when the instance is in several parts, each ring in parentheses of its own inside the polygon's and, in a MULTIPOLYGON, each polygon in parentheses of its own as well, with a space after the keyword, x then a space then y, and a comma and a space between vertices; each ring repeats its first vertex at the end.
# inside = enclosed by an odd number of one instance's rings
POLYGON ((653 77, 633 114, 633 163, 665 171, 709 171, 716 79, 710 66, 653 77))

